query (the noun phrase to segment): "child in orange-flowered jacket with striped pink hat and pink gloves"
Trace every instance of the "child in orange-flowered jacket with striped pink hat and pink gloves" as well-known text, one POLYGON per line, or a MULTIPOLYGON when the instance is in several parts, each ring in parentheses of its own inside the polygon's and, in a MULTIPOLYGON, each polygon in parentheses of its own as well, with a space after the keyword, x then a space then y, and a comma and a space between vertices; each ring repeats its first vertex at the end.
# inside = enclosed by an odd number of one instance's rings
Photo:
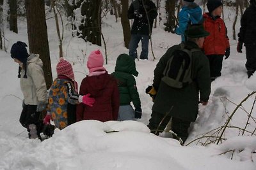
POLYGON ((90 94, 80 96, 77 93, 72 65, 63 57, 60 58, 56 71, 58 77, 49 90, 49 104, 44 124, 49 124, 52 118, 55 127, 63 129, 76 122, 76 104, 93 106, 95 99, 91 98, 90 94))

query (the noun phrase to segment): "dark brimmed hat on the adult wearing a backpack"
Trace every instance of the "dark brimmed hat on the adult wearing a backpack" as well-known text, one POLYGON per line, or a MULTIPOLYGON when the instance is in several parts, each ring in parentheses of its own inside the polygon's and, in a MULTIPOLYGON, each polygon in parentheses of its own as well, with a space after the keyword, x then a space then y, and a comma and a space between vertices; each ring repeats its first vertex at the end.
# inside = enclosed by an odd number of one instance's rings
POLYGON ((209 36, 209 34, 209 32, 205 31, 203 24, 190 25, 184 33, 188 38, 200 38, 209 36))

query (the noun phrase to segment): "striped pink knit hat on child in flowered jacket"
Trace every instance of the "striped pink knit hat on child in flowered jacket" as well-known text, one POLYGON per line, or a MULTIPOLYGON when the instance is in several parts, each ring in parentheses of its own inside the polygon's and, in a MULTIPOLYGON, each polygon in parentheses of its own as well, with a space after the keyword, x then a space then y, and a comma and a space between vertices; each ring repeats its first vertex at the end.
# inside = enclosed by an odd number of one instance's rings
POLYGON ((64 60, 63 57, 60 57, 60 62, 58 62, 56 66, 56 71, 58 76, 64 75, 70 78, 71 80, 75 80, 72 65, 69 62, 67 62, 67 60, 64 60))

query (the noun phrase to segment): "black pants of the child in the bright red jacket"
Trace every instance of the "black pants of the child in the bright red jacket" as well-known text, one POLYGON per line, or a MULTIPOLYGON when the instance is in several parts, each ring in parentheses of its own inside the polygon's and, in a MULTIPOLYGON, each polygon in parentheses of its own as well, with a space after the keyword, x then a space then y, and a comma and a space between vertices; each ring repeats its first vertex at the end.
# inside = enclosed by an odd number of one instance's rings
POLYGON ((223 55, 207 55, 210 64, 211 79, 221 76, 223 55))

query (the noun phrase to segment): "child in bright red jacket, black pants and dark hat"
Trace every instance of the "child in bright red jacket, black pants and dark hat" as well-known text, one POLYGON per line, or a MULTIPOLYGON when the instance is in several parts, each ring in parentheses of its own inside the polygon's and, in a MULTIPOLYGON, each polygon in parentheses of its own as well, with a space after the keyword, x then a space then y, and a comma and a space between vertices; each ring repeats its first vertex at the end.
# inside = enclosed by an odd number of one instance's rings
POLYGON ((221 13, 223 4, 220 0, 208 0, 207 8, 209 13, 204 13, 204 28, 210 32, 205 38, 204 52, 210 63, 211 79, 214 81, 221 76, 223 56, 227 59, 230 55, 230 46, 227 36, 227 27, 221 13))

